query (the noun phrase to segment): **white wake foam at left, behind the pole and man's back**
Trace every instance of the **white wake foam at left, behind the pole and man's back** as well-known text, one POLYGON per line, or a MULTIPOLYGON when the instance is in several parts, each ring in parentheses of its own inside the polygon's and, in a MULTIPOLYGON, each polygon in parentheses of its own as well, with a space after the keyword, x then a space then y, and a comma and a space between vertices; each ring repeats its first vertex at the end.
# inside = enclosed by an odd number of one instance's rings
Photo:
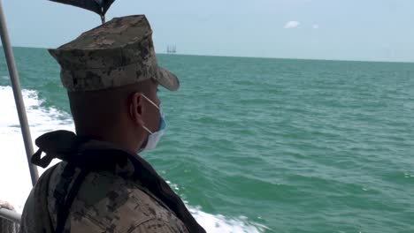
MULTIPOLYGON (((71 121, 57 120, 64 113, 40 107, 42 101, 35 91, 24 90, 23 98, 32 139, 48 131, 73 130, 71 121)), ((32 184, 11 86, 0 86, 0 100, 0 199, 11 202, 21 212, 32 184)))

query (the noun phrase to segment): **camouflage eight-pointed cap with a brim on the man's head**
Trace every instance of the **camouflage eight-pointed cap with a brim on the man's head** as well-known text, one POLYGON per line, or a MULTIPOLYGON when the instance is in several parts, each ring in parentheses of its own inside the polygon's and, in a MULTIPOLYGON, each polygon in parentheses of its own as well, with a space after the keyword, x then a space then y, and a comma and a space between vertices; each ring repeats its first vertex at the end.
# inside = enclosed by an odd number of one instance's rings
POLYGON ((175 91, 179 79, 158 66, 151 35, 144 15, 126 16, 49 52, 60 64, 60 78, 69 92, 126 86, 151 78, 175 91))

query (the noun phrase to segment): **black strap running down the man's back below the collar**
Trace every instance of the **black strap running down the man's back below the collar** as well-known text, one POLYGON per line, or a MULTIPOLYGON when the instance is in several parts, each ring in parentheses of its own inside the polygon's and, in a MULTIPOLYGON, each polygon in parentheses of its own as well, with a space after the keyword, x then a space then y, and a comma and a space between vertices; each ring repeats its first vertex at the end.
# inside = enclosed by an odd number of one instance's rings
POLYGON ((72 207, 73 199, 79 192, 80 185, 83 183, 85 177, 88 176, 87 169, 81 169, 80 174, 75 177, 73 181, 73 176, 75 173, 75 166, 72 163, 68 163, 65 166, 65 169, 61 175, 59 183, 56 187, 53 196, 56 199, 56 208, 58 210, 57 214, 57 224, 56 224, 56 233, 62 233, 65 229, 65 223, 67 216, 69 215, 70 209, 72 207), (72 184, 69 189, 69 184, 72 184))

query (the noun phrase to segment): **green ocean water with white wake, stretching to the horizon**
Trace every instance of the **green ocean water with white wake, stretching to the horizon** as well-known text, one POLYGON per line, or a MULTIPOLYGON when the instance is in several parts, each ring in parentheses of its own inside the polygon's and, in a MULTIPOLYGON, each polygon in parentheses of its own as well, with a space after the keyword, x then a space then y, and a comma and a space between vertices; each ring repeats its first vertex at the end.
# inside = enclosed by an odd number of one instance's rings
MULTIPOLYGON (((59 67, 14 49, 35 139, 73 130, 59 67)), ((414 232, 414 64, 158 55, 167 131, 142 154, 208 232, 414 232)), ((0 199, 30 177, 0 55, 0 199)))

